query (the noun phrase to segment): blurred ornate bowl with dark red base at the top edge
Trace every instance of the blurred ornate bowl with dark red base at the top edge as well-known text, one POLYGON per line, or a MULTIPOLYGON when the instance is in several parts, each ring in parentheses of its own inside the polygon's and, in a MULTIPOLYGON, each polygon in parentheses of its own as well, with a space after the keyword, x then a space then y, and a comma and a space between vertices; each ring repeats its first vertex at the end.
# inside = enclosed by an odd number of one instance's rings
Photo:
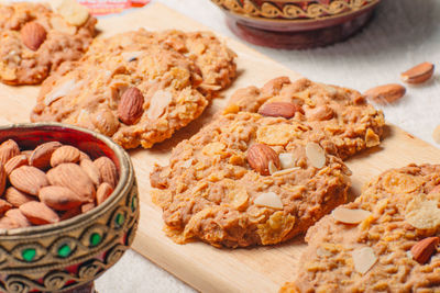
POLYGON ((360 31, 381 0, 211 0, 231 31, 267 47, 302 49, 343 41, 360 31))

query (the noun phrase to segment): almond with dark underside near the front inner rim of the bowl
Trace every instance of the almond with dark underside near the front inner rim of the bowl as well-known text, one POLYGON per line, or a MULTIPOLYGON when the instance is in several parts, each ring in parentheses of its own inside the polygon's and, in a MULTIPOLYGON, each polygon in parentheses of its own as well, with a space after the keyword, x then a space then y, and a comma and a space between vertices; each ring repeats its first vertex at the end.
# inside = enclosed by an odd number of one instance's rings
POLYGON ((26 202, 20 205, 20 212, 34 225, 54 224, 59 222, 58 215, 42 202, 26 202))

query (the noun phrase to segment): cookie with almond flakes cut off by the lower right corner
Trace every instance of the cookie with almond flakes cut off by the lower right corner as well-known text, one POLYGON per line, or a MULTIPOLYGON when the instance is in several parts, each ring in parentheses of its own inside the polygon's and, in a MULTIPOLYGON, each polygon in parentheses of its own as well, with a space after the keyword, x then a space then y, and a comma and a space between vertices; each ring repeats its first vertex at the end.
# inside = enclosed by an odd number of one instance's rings
POLYGON ((323 217, 280 292, 439 292, 440 166, 388 170, 323 217))

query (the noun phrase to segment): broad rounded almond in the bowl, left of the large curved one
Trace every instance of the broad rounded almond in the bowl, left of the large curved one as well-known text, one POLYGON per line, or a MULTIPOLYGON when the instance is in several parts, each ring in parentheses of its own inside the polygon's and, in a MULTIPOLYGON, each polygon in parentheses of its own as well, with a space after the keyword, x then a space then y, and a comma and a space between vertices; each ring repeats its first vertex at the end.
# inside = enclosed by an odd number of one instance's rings
POLYGON ((9 181, 18 190, 37 195, 38 190, 48 185, 46 174, 32 166, 22 166, 11 172, 9 181))

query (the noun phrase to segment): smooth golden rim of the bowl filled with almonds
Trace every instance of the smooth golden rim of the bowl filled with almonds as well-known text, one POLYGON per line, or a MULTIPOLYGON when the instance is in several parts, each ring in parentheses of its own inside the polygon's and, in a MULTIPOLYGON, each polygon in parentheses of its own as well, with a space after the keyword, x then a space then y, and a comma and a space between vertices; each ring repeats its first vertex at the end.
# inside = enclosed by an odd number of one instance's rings
POLYGON ((1 230, 0 232, 0 240, 1 239, 11 239, 11 237, 18 237, 22 238, 22 236, 35 236, 35 235, 44 235, 46 233, 53 233, 54 230, 63 230, 63 229, 70 229, 74 228, 76 225, 80 224, 81 222, 90 222, 95 221, 95 218, 99 217, 108 209, 111 209, 114 204, 119 202, 119 200, 124 196, 128 192, 131 190, 132 182, 134 180, 134 171, 133 171, 133 166, 130 160, 129 154, 120 147, 118 144, 116 144, 111 138, 82 128, 78 127, 75 125, 67 125, 63 123, 55 123, 55 122, 47 122, 47 123, 18 123, 18 124, 8 124, 8 125, 2 125, 0 126, 0 132, 6 131, 6 129, 15 129, 15 128, 24 128, 24 129, 35 129, 35 128, 41 128, 42 131, 50 131, 50 128, 54 128, 57 131, 63 131, 63 129, 73 129, 76 132, 82 132, 88 135, 94 136, 95 138, 103 142, 112 151, 114 151, 116 157, 119 160, 120 164, 120 179, 114 188, 113 193, 103 203, 100 205, 96 206, 95 209, 88 211, 87 213, 77 215, 75 217, 72 217, 69 219, 64 219, 55 224, 47 224, 47 225, 42 225, 42 226, 31 226, 31 227, 23 227, 23 228, 15 228, 15 229, 10 229, 10 230, 1 230))

